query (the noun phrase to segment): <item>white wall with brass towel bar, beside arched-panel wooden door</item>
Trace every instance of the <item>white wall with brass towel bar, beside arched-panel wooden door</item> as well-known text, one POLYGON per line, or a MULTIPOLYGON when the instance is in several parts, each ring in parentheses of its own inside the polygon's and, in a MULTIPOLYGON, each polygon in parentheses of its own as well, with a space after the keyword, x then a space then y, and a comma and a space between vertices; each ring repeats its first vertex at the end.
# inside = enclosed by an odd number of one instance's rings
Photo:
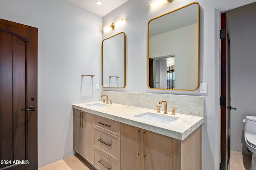
POLYGON ((0 18, 38 28, 38 167, 72 155, 72 104, 100 99, 102 18, 65 0, 1 0, 0 18))

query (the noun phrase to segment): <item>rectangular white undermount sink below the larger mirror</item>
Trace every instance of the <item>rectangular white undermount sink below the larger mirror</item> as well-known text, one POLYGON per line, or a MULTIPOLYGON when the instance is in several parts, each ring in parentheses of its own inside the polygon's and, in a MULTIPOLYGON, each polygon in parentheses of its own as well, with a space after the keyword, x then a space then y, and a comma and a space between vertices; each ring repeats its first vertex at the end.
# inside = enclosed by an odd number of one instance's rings
POLYGON ((157 121, 159 123, 165 123, 165 124, 171 123, 179 119, 179 117, 171 117, 168 115, 160 115, 160 114, 150 113, 150 112, 135 115, 134 117, 139 117, 141 119, 146 119, 151 121, 157 121))

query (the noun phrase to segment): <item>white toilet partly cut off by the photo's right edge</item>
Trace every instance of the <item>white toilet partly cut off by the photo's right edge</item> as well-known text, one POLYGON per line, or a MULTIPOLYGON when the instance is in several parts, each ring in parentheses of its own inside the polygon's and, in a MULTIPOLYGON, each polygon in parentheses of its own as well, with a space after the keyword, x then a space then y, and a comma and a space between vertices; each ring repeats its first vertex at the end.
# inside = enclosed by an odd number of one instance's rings
POLYGON ((256 170, 256 116, 246 116, 244 122, 244 139, 246 146, 252 152, 250 170, 256 170))

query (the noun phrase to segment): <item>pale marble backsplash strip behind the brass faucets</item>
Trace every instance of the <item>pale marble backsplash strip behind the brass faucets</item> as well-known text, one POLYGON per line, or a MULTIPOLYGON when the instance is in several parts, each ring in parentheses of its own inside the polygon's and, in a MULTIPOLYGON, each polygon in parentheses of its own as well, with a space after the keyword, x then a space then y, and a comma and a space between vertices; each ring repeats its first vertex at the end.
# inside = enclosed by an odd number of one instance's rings
MULTIPOLYGON (((148 109, 156 109, 156 105, 159 105, 159 101, 163 100, 167 102, 168 113, 172 112, 170 107, 175 107, 177 108, 176 113, 204 117, 203 96, 113 91, 102 91, 101 95, 107 95, 109 99, 112 99, 112 103, 144 107, 148 109)), ((160 111, 162 113, 164 112, 164 104, 160 107, 160 111)))

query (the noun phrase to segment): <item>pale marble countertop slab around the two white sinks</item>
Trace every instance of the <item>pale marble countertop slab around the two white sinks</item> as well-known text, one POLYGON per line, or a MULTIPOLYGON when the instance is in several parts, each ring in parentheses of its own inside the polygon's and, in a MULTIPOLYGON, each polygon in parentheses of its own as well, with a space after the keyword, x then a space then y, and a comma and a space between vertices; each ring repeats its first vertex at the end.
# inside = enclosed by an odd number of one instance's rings
POLYGON ((90 102, 82 104, 73 104, 72 107, 74 109, 86 111, 94 115, 106 117, 108 119, 119 121, 121 123, 126 123, 128 125, 139 127, 148 131, 159 133, 161 135, 166 135, 168 137, 172 137, 179 140, 184 140, 186 137, 188 137, 188 135, 190 135, 190 133, 196 130, 200 125, 202 125, 202 123, 204 123, 204 117, 180 113, 175 113, 176 115, 171 115, 170 111, 168 111, 168 114, 165 115, 170 117, 178 117, 179 119, 168 124, 158 123, 156 121, 150 121, 134 116, 146 112, 163 114, 163 111, 161 111, 161 113, 157 113, 156 109, 146 109, 142 107, 134 107, 122 104, 105 104, 106 106, 104 107, 87 106, 90 104, 97 103, 102 104, 102 102, 90 102))

